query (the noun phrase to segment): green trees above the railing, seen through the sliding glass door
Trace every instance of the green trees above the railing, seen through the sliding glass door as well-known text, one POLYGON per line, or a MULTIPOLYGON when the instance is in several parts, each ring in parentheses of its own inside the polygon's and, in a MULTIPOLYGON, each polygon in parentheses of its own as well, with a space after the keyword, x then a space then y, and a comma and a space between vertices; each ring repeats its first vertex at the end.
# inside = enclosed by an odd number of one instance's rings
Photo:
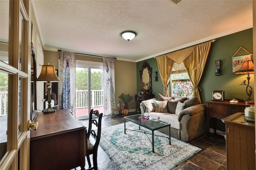
MULTIPOLYGON (((92 69, 91 90, 103 89, 103 71, 92 69)), ((76 70, 76 90, 88 90, 88 68, 76 70)))

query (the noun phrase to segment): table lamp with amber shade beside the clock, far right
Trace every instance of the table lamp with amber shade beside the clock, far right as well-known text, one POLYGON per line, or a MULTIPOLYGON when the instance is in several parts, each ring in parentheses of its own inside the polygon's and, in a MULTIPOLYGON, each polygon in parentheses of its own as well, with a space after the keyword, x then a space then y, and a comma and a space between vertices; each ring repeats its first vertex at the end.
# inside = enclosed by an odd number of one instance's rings
POLYGON ((253 104, 254 101, 251 100, 252 96, 252 87, 250 87, 250 74, 254 73, 254 65, 252 60, 245 60, 242 67, 235 71, 236 74, 247 74, 248 84, 246 84, 246 80, 244 80, 240 85, 246 85, 246 94, 248 95, 247 100, 244 103, 253 104))

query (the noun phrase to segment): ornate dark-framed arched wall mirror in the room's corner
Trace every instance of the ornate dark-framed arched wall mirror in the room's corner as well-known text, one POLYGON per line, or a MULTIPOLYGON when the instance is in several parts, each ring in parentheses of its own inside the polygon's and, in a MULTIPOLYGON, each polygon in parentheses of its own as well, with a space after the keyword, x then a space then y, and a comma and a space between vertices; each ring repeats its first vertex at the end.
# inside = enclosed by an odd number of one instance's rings
POLYGON ((146 93, 148 93, 150 95, 152 94, 151 77, 152 77, 152 68, 145 61, 140 69, 140 91, 143 91, 143 94, 145 91, 146 91, 146 93), (146 71, 145 69, 147 69, 148 71, 146 71), (148 73, 148 75, 147 75, 147 73, 148 73), (147 79, 147 77, 149 77, 149 79, 147 79), (146 81, 144 79, 146 79, 146 81))

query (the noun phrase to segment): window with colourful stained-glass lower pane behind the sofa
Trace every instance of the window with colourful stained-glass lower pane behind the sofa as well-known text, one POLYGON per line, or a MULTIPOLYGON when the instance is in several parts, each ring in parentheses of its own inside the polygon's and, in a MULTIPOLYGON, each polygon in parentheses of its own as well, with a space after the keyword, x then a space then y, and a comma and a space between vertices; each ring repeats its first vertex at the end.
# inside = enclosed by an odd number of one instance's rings
POLYGON ((174 63, 170 77, 172 97, 193 97, 194 85, 189 79, 184 63, 174 63))

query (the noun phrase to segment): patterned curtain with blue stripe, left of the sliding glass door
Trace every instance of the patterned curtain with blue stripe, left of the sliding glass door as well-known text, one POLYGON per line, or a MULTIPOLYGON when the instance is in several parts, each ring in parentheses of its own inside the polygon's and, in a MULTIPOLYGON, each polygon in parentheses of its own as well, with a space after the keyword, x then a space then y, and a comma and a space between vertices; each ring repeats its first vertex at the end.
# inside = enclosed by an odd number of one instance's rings
POLYGON ((61 51, 59 59, 58 104, 60 109, 71 109, 74 113, 76 95, 76 53, 61 51))

